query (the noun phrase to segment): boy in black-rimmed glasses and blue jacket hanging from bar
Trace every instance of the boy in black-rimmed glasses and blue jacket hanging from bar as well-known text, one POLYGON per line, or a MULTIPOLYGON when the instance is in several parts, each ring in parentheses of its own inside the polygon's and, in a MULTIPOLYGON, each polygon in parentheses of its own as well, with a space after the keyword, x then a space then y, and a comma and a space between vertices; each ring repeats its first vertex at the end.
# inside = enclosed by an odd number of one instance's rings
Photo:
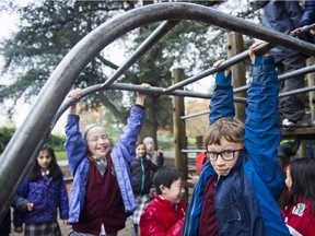
POLYGON ((254 72, 245 127, 233 119, 230 70, 215 76, 205 138, 209 161, 194 189, 183 235, 290 235, 276 201, 283 188, 277 166, 278 76, 271 57, 255 56, 258 45, 249 49, 254 72))

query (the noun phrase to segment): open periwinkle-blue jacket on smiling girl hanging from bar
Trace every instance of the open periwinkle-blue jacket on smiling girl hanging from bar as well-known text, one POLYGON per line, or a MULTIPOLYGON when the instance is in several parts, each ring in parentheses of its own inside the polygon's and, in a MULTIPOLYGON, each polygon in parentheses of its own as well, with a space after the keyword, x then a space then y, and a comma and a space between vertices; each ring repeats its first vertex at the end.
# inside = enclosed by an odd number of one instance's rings
MULTIPOLYGON (((128 118, 127 126, 124 128, 124 133, 114 145, 110 154, 126 213, 131 213, 136 208, 130 182, 130 165, 136 157, 135 146, 142 126, 143 115, 143 108, 137 105, 131 107, 130 117, 128 118)), ((66 133, 65 149, 69 160, 70 172, 73 176, 69 223, 77 223, 84 206, 90 169, 90 161, 86 156, 88 146, 80 132, 79 116, 68 116, 66 133)))

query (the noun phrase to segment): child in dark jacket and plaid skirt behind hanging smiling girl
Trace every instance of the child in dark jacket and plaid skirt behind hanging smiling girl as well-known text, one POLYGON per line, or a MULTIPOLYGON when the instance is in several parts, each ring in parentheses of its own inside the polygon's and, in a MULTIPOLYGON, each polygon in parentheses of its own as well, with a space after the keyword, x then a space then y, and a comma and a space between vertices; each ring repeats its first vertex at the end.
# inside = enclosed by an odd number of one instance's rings
POLYGON ((143 143, 137 143, 136 156, 137 158, 131 163, 132 190, 137 205, 133 215, 130 216, 133 223, 133 236, 138 235, 140 216, 143 209, 150 202, 149 193, 152 186, 152 173, 158 170, 158 166, 147 157, 145 145, 143 143))

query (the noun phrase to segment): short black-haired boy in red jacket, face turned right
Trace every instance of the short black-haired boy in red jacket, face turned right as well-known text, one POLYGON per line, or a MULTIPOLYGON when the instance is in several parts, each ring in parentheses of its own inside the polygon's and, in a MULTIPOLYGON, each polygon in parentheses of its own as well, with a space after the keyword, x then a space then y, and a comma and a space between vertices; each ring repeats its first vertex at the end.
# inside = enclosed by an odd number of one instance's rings
POLYGON ((140 235, 179 236, 186 212, 184 174, 174 166, 162 166, 153 178, 154 200, 140 219, 140 235))

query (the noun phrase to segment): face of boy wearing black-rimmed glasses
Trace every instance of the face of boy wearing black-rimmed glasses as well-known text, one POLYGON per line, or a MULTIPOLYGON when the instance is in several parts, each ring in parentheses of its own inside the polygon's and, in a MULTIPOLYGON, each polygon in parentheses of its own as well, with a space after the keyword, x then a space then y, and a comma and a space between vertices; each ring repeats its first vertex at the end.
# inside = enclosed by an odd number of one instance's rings
MULTIPOLYGON (((210 144, 207 146, 207 150, 210 152, 222 152, 226 150, 241 150, 243 149, 243 145, 237 142, 229 142, 224 138, 220 140, 220 144, 210 144)), ((234 167, 237 158, 238 158, 240 152, 234 153, 234 158, 231 161, 224 161, 221 155, 218 155, 218 158, 215 161, 211 161, 211 165, 214 169, 214 172, 219 176, 228 176, 231 172, 231 169, 234 167)))

